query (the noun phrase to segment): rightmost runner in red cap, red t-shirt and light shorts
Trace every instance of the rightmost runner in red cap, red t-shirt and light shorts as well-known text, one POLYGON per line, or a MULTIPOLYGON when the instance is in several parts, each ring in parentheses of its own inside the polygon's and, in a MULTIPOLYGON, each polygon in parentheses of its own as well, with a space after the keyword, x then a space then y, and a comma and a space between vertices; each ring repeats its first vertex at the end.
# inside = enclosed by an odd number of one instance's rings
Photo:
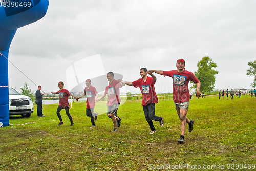
POLYGON ((179 143, 184 142, 184 136, 186 131, 186 125, 188 123, 189 128, 188 131, 191 132, 193 130, 194 120, 189 120, 187 115, 187 110, 189 106, 189 90, 188 83, 189 81, 193 81, 197 84, 197 92, 196 96, 201 97, 200 93, 200 81, 195 77, 192 72, 185 70, 185 60, 179 59, 176 62, 177 70, 171 71, 163 71, 163 70, 150 70, 148 73, 157 73, 164 76, 169 76, 173 78, 173 100, 176 111, 181 121, 181 136, 178 140, 179 143))

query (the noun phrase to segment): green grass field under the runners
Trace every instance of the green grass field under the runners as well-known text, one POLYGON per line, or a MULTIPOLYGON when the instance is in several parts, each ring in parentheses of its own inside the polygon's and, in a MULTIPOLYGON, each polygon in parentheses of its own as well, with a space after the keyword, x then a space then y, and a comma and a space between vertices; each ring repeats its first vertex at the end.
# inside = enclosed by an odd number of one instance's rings
MULTIPOLYGON (((156 104, 156 115, 165 121, 162 128, 153 121, 156 134, 148 134, 141 101, 127 100, 120 106, 117 133, 111 132, 113 123, 106 114, 90 129, 86 103, 72 104, 73 127, 65 110, 64 124, 57 126, 58 104, 43 105, 46 117, 36 112, 30 118, 10 116, 12 125, 0 129, 0 170, 159 170, 161 165, 166 170, 179 164, 190 167, 175 170, 256 170, 256 98, 234 98, 193 96, 187 117, 195 124, 191 133, 187 126, 184 144, 177 143, 180 120, 172 100, 156 104)), ((105 102, 97 102, 95 112, 105 111, 105 102)))

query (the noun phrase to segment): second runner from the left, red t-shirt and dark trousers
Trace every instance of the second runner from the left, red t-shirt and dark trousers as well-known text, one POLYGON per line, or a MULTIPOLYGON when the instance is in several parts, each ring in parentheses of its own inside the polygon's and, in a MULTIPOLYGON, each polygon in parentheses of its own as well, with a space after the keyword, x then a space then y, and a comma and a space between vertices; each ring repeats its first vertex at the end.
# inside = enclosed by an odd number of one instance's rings
POLYGON ((84 93, 77 98, 77 101, 86 95, 86 116, 91 118, 92 126, 90 128, 95 127, 95 121, 97 120, 98 113, 93 113, 95 108, 95 96, 98 98, 98 92, 95 87, 91 85, 91 80, 86 80, 86 88, 84 88, 84 93))

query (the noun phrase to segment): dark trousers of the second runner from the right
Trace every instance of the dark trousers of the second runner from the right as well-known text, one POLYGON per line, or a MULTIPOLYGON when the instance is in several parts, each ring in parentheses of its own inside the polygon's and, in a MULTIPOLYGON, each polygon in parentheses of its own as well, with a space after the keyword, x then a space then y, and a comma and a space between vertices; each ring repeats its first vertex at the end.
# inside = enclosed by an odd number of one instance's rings
POLYGON ((150 129, 152 131, 155 131, 156 129, 154 127, 154 124, 153 124, 152 120, 159 121, 159 122, 162 120, 161 117, 155 116, 155 103, 150 103, 148 105, 143 105, 143 111, 144 111, 144 114, 145 114, 146 121, 150 125, 150 129))

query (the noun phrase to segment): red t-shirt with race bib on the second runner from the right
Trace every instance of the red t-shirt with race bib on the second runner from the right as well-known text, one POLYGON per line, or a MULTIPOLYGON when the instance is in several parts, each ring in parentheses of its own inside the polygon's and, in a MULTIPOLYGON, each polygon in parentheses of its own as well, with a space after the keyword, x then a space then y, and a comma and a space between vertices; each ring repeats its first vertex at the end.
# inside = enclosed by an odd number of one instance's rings
POLYGON ((144 82, 143 78, 140 78, 137 81, 133 81, 132 84, 135 88, 140 88, 140 91, 143 96, 142 105, 158 103, 155 91, 156 81, 154 81, 152 77, 147 76, 146 82, 144 82))

